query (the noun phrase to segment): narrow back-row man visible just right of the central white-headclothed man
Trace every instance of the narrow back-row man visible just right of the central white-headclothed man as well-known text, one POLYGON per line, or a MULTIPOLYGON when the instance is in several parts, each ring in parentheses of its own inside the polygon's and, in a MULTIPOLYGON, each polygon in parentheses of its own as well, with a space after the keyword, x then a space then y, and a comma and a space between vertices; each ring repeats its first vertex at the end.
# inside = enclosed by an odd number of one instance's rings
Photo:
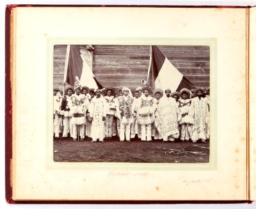
POLYGON ((137 121, 137 114, 136 114, 136 111, 135 110, 135 107, 137 107, 137 102, 140 98, 140 91, 139 91, 139 88, 136 88, 135 89, 135 95, 133 97, 133 123, 130 127, 130 138, 131 139, 141 139, 141 126, 138 124, 138 121, 137 121))

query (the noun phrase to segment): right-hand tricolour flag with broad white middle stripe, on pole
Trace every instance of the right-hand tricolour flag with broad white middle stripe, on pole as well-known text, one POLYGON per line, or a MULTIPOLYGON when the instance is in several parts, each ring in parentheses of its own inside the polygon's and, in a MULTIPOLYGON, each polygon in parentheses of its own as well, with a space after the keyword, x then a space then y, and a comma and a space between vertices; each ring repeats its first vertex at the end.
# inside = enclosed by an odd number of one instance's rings
POLYGON ((182 88, 195 88, 178 69, 160 52, 157 46, 151 46, 150 68, 147 84, 153 88, 163 90, 170 88, 172 92, 182 88))

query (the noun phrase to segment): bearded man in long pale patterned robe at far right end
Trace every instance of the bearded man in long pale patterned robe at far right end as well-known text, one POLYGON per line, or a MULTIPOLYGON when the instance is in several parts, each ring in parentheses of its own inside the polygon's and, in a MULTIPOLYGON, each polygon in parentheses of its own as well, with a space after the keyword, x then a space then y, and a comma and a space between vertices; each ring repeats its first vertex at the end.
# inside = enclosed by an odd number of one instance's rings
POLYGON ((191 139, 193 143, 201 139, 206 142, 207 137, 207 121, 209 121, 209 109, 205 98, 203 98, 204 88, 197 88, 195 95, 190 106, 188 116, 194 120, 192 126, 191 139))

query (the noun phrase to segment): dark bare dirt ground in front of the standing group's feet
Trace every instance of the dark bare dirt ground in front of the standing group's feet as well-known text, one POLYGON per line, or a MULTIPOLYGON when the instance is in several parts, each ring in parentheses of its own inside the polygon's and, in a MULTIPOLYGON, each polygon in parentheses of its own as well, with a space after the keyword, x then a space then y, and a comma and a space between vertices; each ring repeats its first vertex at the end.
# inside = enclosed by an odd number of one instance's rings
POLYGON ((209 162, 209 141, 196 144, 163 140, 120 142, 106 139, 105 143, 54 139, 55 162, 209 162))

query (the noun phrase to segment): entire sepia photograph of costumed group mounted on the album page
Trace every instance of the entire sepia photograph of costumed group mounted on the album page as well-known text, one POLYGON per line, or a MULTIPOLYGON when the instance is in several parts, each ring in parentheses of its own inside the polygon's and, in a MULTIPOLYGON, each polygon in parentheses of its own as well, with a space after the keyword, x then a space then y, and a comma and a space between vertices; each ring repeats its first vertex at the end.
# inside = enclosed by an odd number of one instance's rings
POLYGON ((54 162, 209 162, 209 46, 53 52, 54 162))

